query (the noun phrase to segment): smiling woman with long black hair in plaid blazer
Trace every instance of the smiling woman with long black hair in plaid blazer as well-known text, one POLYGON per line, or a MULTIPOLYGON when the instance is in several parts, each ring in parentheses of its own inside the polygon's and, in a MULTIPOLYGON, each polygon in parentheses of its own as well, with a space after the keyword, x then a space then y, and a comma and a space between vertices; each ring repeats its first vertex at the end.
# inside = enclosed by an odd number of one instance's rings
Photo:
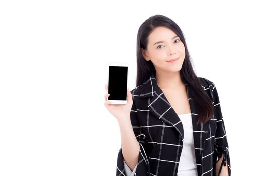
MULTIPOLYGON (((105 85, 107 90, 107 85, 105 85)), ((105 106, 118 120, 116 175, 231 175, 215 84, 197 77, 184 35, 154 15, 137 35, 136 88, 126 105, 105 106)))

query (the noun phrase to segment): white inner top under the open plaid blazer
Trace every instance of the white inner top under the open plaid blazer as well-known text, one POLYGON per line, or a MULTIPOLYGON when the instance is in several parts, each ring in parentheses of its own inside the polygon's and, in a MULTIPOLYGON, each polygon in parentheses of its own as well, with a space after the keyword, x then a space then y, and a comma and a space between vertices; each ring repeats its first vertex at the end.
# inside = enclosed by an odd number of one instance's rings
POLYGON ((178 176, 197 175, 193 123, 191 113, 178 114, 184 127, 183 150, 180 156, 178 176))

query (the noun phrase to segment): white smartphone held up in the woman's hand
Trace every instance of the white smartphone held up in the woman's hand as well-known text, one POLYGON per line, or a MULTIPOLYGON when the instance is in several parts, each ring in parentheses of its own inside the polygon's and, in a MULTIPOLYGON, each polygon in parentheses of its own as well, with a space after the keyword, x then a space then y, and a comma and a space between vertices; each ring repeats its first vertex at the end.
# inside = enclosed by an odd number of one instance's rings
POLYGON ((107 100, 112 104, 127 103, 127 78, 127 63, 108 63, 107 93, 110 95, 108 96, 107 100))

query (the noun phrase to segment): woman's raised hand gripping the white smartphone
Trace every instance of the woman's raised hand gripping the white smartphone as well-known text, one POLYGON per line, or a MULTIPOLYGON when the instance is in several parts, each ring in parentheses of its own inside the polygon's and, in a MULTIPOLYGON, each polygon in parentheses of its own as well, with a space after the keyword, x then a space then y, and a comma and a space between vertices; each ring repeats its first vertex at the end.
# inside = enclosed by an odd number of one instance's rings
MULTIPOLYGON (((105 89, 107 91, 107 84, 105 84, 105 89)), ((107 110, 118 120, 129 120, 130 121, 130 111, 133 105, 132 94, 129 89, 127 89, 127 103, 124 105, 111 104, 107 100, 110 94, 105 94, 105 107, 107 110), (129 119, 126 119, 129 118, 129 119)))

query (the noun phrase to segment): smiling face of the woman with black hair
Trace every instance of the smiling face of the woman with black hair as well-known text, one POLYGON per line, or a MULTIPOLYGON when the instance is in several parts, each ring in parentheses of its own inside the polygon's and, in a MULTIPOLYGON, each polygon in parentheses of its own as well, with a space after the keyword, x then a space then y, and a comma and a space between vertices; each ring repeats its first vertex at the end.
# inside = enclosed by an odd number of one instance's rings
POLYGON ((159 26, 148 36, 146 50, 141 48, 145 60, 153 63, 156 72, 177 72, 181 70, 184 58, 185 47, 183 42, 171 29, 159 26), (173 63, 168 60, 179 58, 173 63))

